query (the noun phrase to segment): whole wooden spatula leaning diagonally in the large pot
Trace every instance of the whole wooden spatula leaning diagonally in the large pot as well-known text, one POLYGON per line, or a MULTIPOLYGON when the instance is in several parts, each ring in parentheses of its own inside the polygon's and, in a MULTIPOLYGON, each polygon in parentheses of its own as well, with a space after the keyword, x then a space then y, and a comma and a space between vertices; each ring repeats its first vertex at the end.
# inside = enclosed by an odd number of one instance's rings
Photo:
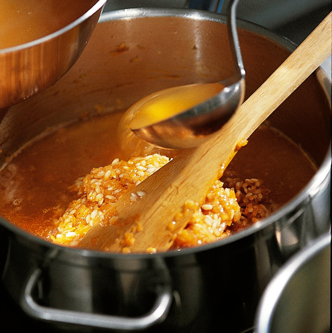
POLYGON ((255 129, 328 57, 331 53, 331 13, 285 60, 285 62, 236 111, 229 122, 209 141, 183 151, 168 164, 134 188, 144 196, 132 202, 131 192, 115 203, 119 217, 114 225, 94 225, 80 247, 120 252, 120 241, 127 232, 134 233, 131 252, 169 249, 174 235, 190 218, 181 214, 186 200, 202 202, 208 190, 228 165, 237 145, 255 129), (220 166, 223 166, 220 168, 220 166), (137 228, 139 224, 139 228, 137 228), (133 232, 133 230, 140 231, 133 232))

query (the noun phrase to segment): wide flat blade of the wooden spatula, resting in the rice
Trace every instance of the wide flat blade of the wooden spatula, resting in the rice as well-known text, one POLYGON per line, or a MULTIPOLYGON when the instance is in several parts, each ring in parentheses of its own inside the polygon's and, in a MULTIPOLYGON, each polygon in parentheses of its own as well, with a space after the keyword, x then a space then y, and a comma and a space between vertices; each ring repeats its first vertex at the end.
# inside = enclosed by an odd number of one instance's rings
MULTIPOLYGON (((234 139, 230 140, 230 144, 234 145, 234 139)), ((133 237, 135 241, 130 245, 133 252, 146 252, 148 248, 158 251, 169 249, 174 234, 184 228, 191 216, 190 212, 181 214, 172 224, 174 215, 181 212, 186 200, 201 201, 221 176, 219 159, 209 159, 208 163, 201 165, 205 151, 199 148, 184 151, 178 156, 180 158, 176 157, 164 165, 161 168, 163 172, 159 169, 135 186, 132 192, 123 195, 112 207, 118 220, 113 225, 93 226, 82 239, 80 247, 119 252, 127 247, 128 238, 133 237), (144 195, 132 201, 132 193, 138 192, 144 192, 144 195)), ((228 160, 228 163, 235 155, 231 153, 228 157, 229 151, 227 149, 222 154, 225 157, 223 160, 228 160)), ((234 152, 234 149, 231 151, 234 152)), ((220 155, 218 146, 210 147, 209 156, 212 155, 220 155)))

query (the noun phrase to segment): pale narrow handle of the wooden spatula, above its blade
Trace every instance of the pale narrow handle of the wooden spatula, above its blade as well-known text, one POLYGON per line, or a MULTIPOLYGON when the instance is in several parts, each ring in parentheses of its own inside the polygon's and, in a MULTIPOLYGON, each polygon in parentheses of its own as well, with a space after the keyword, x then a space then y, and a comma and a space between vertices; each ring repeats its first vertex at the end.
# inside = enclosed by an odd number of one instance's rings
POLYGON ((241 105, 239 111, 250 111, 243 119, 243 137, 248 138, 331 54, 331 14, 332 12, 241 105))

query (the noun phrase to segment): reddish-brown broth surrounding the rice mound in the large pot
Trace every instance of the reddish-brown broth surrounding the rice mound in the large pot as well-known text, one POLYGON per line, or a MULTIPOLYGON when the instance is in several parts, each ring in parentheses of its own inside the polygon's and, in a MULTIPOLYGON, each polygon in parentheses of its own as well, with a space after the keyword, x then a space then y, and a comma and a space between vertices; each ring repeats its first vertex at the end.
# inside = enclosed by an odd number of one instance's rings
MULTIPOLYGON (((0 215, 20 228, 46 237, 68 204, 75 179, 93 167, 123 159, 116 130, 122 113, 92 118, 32 142, 0 171, 0 215)), ((282 205, 294 197, 317 168, 280 132, 261 126, 227 167, 225 175, 260 178, 282 205)))

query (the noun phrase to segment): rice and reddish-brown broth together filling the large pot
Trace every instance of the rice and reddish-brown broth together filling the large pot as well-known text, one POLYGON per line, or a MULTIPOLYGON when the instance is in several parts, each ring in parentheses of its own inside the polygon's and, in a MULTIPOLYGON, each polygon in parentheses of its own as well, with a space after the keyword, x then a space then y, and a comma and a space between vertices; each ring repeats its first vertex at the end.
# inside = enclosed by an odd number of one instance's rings
MULTIPOLYGON (((57 129, 20 150, 0 173, 0 214, 28 232, 67 246, 79 246, 94 223, 116 223, 112 202, 128 191, 135 201, 135 185, 169 161, 164 156, 169 151, 147 143, 145 157, 123 161, 140 140, 131 137, 121 153, 116 136, 121 115, 57 129)), ((175 236, 173 249, 216 241, 249 227, 287 203, 316 171, 300 147, 262 125, 203 204, 194 207, 187 227, 175 236)), ((169 228, 172 231, 172 225, 169 228)), ((139 231, 138 226, 120 240, 122 252, 130 252, 139 231)))

